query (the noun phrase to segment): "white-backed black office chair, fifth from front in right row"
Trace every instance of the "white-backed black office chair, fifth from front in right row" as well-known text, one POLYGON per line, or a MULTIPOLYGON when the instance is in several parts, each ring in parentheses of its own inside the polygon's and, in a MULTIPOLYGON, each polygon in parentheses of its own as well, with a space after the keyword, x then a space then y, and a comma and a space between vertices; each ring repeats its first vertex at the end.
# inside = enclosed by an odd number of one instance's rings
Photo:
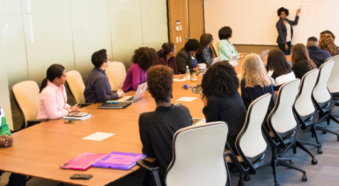
POLYGON ((329 81, 329 76, 331 75, 333 65, 334 61, 330 60, 320 66, 318 79, 312 92, 312 100, 314 101, 314 105, 316 105, 316 110, 318 111, 320 117, 318 123, 316 124, 316 130, 321 130, 324 134, 327 132, 335 134, 337 136, 337 140, 339 141, 338 132, 333 132, 332 130, 320 125, 320 122, 324 121, 325 119, 327 120, 327 125, 329 125, 330 120, 333 120, 339 124, 339 121, 334 116, 332 116, 335 103, 331 94, 329 93, 329 90, 327 89, 327 82, 329 81))

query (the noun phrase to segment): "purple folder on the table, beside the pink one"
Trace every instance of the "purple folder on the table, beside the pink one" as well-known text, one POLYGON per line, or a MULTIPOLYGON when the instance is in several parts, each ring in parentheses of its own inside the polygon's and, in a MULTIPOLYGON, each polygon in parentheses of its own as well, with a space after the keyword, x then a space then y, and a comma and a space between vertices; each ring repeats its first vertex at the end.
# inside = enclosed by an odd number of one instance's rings
POLYGON ((136 161, 146 158, 145 154, 127 153, 127 152, 111 152, 107 156, 101 158, 92 167, 104 167, 111 169, 130 169, 136 165, 136 161))

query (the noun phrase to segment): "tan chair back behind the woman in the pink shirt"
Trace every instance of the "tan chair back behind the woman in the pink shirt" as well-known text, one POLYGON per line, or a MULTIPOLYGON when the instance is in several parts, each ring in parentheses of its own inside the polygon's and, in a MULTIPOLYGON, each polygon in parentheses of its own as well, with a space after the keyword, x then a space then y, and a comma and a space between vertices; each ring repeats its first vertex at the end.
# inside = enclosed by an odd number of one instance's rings
POLYGON ((39 114, 39 86, 35 81, 23 81, 13 85, 12 92, 27 125, 26 121, 36 119, 39 114))

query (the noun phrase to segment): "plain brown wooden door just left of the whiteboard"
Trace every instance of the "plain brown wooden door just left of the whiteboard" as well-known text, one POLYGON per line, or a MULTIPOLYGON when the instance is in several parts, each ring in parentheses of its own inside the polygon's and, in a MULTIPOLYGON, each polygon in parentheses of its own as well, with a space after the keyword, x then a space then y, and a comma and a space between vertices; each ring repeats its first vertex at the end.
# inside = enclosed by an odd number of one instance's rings
POLYGON ((204 0, 187 0, 188 7, 188 37, 200 41, 205 33, 204 0))

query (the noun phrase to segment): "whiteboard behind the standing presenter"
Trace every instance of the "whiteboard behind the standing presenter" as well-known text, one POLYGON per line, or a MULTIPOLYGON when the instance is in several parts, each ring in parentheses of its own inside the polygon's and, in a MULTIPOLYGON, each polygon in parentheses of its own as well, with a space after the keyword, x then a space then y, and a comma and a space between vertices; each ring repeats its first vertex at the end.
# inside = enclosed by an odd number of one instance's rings
POLYGON ((227 25, 233 30, 234 44, 277 45, 277 10, 289 10, 294 20, 300 8, 298 25, 293 26, 292 45, 306 43, 309 37, 319 39, 320 32, 330 30, 338 39, 338 0, 209 0, 205 2, 205 30, 218 40, 218 30, 227 25))

